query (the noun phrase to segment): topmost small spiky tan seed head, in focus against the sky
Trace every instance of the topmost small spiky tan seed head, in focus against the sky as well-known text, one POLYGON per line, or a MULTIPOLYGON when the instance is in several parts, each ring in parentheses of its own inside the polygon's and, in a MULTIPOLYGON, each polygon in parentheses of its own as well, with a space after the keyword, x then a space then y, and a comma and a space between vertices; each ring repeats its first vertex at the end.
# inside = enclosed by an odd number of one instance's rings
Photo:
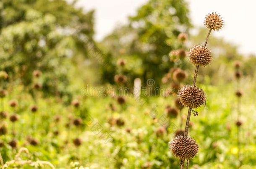
POLYGON ((206 28, 211 30, 220 30, 222 26, 224 25, 222 18, 217 13, 209 13, 206 15, 204 19, 204 24, 206 25, 206 28))

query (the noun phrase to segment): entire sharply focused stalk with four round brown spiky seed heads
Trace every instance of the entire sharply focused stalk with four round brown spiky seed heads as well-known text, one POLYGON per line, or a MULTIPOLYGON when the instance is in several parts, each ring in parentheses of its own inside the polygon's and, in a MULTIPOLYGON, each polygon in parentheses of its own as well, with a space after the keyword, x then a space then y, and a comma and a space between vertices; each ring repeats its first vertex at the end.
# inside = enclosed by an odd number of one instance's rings
MULTIPOLYGON (((207 66, 212 61, 212 54, 209 49, 206 48, 207 40, 212 30, 220 30, 223 26, 223 20, 217 13, 207 14, 204 23, 206 28, 209 29, 205 44, 195 45, 188 51, 189 60, 193 65, 196 66, 193 86, 187 85, 178 91, 178 99, 180 104, 184 107, 188 107, 189 113, 191 113, 191 111, 193 113, 196 112, 194 111, 194 108, 198 108, 206 103, 206 95, 204 91, 195 85, 197 71, 199 66, 207 66)), ((197 114, 198 113, 196 112, 196 115, 197 114)), ((188 137, 187 132, 189 119, 190 118, 187 119, 185 134, 175 136, 175 138, 169 142, 170 151, 175 157, 180 159, 180 169, 184 168, 185 159, 187 159, 188 168, 188 160, 196 156, 199 151, 199 145, 196 143, 196 141, 193 138, 188 137)))

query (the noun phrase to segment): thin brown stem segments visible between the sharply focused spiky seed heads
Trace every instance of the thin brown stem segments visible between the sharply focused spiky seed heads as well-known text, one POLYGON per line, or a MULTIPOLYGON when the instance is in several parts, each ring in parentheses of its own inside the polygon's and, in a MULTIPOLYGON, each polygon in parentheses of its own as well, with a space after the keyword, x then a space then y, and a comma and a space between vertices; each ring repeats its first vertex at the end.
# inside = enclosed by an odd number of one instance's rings
MULTIPOLYGON (((206 47, 207 45, 207 42, 208 42, 208 39, 209 39, 209 36, 211 34, 211 29, 209 30, 207 36, 206 36, 206 40, 204 42, 204 46, 203 48, 206 47)), ((197 78, 197 74, 198 74, 198 70, 199 70, 199 65, 196 66, 196 69, 195 69, 195 73, 194 73, 194 80, 193 80, 193 87, 196 86, 196 78, 197 78)), ((186 121, 186 126, 185 126, 185 133, 184 133, 184 137, 187 138, 188 137, 188 126, 189 126, 189 121, 190 121, 190 116, 191 116, 191 111, 192 111, 192 107, 189 107, 188 108, 188 116, 187 116, 187 121, 186 121)), ((184 163, 185 163, 185 160, 184 159, 181 159, 180 160, 180 169, 184 169, 184 163)), ((188 164, 189 164, 189 159, 187 159, 187 169, 188 169, 188 164)))

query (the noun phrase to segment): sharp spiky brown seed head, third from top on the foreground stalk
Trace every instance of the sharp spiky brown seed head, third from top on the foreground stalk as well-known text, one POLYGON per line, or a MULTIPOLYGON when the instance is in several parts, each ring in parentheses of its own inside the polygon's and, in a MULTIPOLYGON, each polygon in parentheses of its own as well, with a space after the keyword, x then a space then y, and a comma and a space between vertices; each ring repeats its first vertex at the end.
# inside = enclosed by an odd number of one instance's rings
POLYGON ((180 102, 185 107, 198 108, 204 105, 206 96, 201 88, 187 85, 178 91, 180 102))

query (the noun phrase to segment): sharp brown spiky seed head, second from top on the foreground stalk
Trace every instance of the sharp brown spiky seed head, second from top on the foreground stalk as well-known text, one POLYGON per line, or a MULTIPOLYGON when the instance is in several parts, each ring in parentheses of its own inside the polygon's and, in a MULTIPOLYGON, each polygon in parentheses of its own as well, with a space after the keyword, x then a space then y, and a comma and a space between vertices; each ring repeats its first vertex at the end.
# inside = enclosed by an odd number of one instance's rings
POLYGON ((208 48, 196 45, 188 51, 189 60, 194 65, 207 66, 212 61, 212 54, 208 48))

